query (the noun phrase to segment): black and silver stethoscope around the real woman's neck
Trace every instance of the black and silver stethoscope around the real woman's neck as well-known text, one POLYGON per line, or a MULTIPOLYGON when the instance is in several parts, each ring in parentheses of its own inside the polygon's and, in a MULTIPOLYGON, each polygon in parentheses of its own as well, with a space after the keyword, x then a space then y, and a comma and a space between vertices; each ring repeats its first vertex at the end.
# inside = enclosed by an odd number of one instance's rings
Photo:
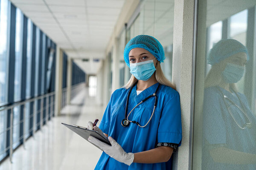
MULTIPOLYGON (((138 81, 137 81, 137 82, 138 82, 138 81)), ((121 122, 121 124, 122 124, 123 127, 127 127, 127 126, 129 125, 129 122, 131 122, 131 123, 136 123, 136 125, 138 125, 138 126, 140 126, 140 127, 145 127, 146 125, 148 125, 148 123, 149 123, 150 120, 152 119, 152 117, 153 117, 153 115, 154 115, 155 108, 157 107, 157 91, 158 91, 158 89, 159 89, 159 87, 160 87, 160 83, 159 83, 159 85, 157 86, 157 90, 154 92, 154 94, 151 94, 150 96, 148 96, 148 97, 146 97, 145 99, 143 99, 139 104, 137 104, 137 105, 130 111, 130 113, 129 113, 128 116, 126 117, 126 115, 127 115, 127 109, 128 109, 128 100, 129 100, 129 96, 130 96, 130 93, 131 93, 132 88, 134 88, 134 86, 137 84, 137 82, 134 83, 134 85, 132 85, 132 87, 130 88, 130 90, 129 90, 129 92, 128 92, 128 96, 127 96, 127 100, 126 100, 126 107, 125 107, 125 119, 123 119, 122 122, 121 122), (150 119, 149 119, 148 122, 146 123, 146 125, 141 126, 141 125, 139 124, 139 122, 128 120, 128 117, 130 116, 131 112, 132 112, 138 105, 140 105, 141 103, 145 102, 147 99, 149 99, 150 97, 153 97, 153 96, 155 97, 154 110, 153 110, 153 112, 152 112, 152 114, 151 114, 150 119)))

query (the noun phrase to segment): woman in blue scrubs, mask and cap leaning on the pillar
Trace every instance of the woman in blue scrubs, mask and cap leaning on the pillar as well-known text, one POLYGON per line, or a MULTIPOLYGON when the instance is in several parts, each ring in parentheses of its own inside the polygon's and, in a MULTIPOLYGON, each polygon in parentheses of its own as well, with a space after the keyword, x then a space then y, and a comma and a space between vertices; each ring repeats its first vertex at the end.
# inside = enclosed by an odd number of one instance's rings
POLYGON ((99 127, 88 122, 111 142, 89 136, 104 151, 95 170, 170 170, 182 130, 180 96, 160 67, 163 46, 138 35, 125 46, 124 59, 131 79, 113 92, 99 127))

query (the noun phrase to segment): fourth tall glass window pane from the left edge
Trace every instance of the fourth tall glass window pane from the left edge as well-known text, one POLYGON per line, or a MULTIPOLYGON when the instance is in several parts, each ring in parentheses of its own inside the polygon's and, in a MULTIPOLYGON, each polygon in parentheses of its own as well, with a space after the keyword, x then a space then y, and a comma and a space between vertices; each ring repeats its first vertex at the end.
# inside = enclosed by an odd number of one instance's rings
POLYGON ((36 27, 35 31, 35 96, 38 96, 39 80, 39 52, 40 52, 40 29, 36 27))

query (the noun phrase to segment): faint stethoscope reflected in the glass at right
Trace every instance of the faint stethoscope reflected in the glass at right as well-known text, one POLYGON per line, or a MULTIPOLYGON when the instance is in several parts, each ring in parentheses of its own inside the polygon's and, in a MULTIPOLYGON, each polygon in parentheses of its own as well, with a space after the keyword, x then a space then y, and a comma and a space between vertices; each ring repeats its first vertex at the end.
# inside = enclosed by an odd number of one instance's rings
POLYGON ((224 96, 224 103, 225 103, 225 105, 226 105, 226 107, 227 107, 227 110, 229 111, 231 117, 232 117, 233 120, 236 122, 236 125, 238 125, 241 129, 245 129, 245 127, 248 127, 248 128, 252 127, 252 121, 251 121, 251 119, 249 118, 249 116, 247 115, 247 113, 245 113, 244 103, 242 102, 241 98, 240 98, 239 95, 236 93, 236 91, 233 91, 233 92, 234 92, 234 93, 236 94, 236 96, 238 97, 238 99, 239 99, 239 101, 241 102, 241 104, 242 104, 244 110, 242 110, 238 105, 236 105, 236 103, 234 103, 234 102, 233 102, 232 100, 230 100, 226 95, 224 95, 224 93, 221 91, 220 87, 218 87, 218 90, 219 90, 219 91, 221 92, 221 94, 224 96), (247 119, 249 120, 248 123, 245 122, 245 124, 244 124, 243 127, 242 127, 241 125, 239 125, 239 123, 236 121, 235 117, 234 117, 233 114, 231 113, 230 108, 229 108, 229 106, 228 106, 228 104, 227 104, 226 99, 228 99, 228 100, 229 100, 233 105, 235 105, 242 113, 244 113, 244 115, 245 115, 245 116, 247 117, 247 119))

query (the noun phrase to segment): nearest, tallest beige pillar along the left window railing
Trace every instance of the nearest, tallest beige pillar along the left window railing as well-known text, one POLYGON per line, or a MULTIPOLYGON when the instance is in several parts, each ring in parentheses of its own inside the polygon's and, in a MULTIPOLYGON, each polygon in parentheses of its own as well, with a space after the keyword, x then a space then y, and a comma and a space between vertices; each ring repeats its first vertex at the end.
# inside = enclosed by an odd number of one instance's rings
POLYGON ((60 116, 61 98, 62 98, 62 70, 63 70, 63 52, 61 48, 56 48, 56 74, 55 74, 55 115, 60 116))

